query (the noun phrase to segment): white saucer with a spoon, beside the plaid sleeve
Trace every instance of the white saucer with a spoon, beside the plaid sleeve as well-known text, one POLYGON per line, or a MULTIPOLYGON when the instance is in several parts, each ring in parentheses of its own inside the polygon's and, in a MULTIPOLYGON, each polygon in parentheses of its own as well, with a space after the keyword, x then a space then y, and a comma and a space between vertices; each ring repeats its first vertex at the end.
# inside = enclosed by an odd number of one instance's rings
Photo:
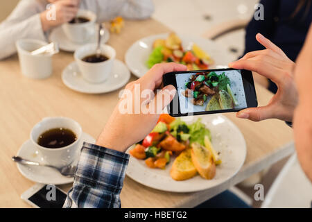
MULTIPOLYGON (((83 147, 83 142, 94 144, 95 139, 89 134, 83 133, 79 147, 83 147)), ((80 150, 78 152, 80 153, 80 150)), ((79 153, 77 153, 77 158, 74 160, 73 164, 78 163, 79 153)), ((37 148, 33 146, 31 139, 28 139, 23 145, 21 145, 17 155, 35 162, 42 162, 42 156, 40 153, 38 153, 37 148)), ((49 185, 64 185, 73 182, 73 178, 62 176, 58 171, 51 169, 50 167, 37 167, 17 164, 17 169, 19 169, 19 172, 21 172, 24 177, 26 177, 28 180, 33 180, 34 182, 40 182, 49 185)))

